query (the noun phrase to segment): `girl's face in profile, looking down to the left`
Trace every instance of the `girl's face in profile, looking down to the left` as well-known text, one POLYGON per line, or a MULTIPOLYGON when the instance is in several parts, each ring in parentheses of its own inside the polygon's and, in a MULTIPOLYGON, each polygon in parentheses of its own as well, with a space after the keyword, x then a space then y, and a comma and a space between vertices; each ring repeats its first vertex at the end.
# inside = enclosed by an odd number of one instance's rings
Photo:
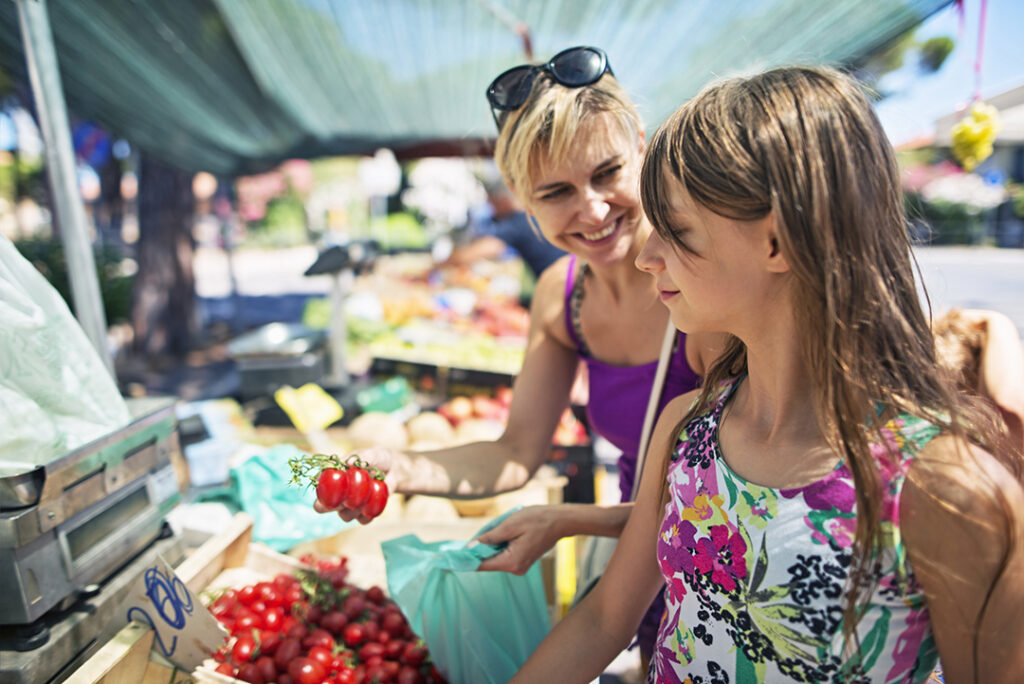
MULTIPOLYGON (((666 174, 668 177, 672 177, 666 174)), ((772 221, 726 218, 696 204, 680 182, 665 187, 671 208, 666 240, 652 230, 636 265, 654 276, 673 324, 686 333, 742 332, 775 307, 778 265, 772 221)))

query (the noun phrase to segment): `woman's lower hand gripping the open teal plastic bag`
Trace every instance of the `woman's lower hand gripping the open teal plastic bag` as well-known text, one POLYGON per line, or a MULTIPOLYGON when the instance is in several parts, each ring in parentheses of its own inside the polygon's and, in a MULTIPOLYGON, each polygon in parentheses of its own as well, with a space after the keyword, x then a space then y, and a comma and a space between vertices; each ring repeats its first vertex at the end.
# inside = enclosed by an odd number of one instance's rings
POLYGON ((484 560, 477 569, 525 574, 562 537, 560 518, 558 506, 529 506, 516 511, 474 540, 480 544, 508 543, 503 551, 484 560))

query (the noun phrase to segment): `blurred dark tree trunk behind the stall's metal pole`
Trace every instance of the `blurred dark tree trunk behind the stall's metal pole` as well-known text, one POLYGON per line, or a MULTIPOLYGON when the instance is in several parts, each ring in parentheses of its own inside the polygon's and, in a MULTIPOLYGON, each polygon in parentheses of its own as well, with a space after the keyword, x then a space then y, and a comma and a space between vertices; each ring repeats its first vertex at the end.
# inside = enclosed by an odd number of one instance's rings
POLYGON ((135 347, 146 356, 181 357, 197 332, 191 175, 145 154, 138 175, 135 347))

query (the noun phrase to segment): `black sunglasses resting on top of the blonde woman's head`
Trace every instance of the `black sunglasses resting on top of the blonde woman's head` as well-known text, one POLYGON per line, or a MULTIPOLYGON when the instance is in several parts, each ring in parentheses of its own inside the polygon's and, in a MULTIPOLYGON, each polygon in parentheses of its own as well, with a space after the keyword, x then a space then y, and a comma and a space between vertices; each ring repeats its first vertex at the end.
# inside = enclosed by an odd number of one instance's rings
POLYGON ((562 50, 546 65, 521 65, 502 72, 487 86, 487 102, 499 131, 508 113, 518 110, 529 97, 534 80, 541 72, 551 74, 556 82, 566 88, 582 88, 596 83, 605 72, 614 76, 604 50, 587 45, 562 50))

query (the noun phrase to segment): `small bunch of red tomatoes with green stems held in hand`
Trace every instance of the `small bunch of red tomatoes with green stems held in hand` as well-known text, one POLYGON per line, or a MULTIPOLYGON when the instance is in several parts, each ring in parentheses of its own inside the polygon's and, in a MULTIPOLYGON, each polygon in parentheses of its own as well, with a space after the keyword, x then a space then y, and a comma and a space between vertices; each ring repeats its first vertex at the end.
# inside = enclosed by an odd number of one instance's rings
POLYGON ((288 460, 292 483, 316 487, 316 499, 327 508, 348 508, 364 518, 376 518, 387 506, 384 473, 356 455, 342 461, 335 455, 312 454, 288 460))

